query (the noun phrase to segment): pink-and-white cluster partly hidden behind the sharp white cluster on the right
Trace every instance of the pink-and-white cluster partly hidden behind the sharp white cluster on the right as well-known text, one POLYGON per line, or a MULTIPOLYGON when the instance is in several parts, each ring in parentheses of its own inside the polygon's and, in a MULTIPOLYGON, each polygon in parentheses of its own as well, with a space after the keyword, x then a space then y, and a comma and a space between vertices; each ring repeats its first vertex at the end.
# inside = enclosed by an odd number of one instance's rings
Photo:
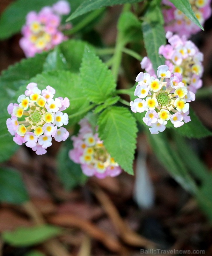
MULTIPOLYGON (((192 41, 186 40, 184 36, 179 37, 173 35, 172 32, 167 32, 166 38, 169 44, 161 45, 158 53, 164 56, 165 64, 172 74, 181 74, 182 82, 187 90, 196 93, 197 89, 202 86, 203 54, 192 41)), ((156 77, 152 63, 147 57, 143 58, 141 67, 151 76, 156 77)))

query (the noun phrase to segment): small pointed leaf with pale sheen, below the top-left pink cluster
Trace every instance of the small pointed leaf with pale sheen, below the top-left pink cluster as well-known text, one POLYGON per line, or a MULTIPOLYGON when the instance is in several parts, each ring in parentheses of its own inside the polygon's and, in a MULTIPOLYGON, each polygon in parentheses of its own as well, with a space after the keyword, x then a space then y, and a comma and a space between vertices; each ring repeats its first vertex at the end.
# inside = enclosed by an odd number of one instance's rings
POLYGON ((46 61, 43 64, 43 71, 62 69, 68 69, 67 61, 62 54, 60 47, 56 46, 55 49, 48 54, 46 61))

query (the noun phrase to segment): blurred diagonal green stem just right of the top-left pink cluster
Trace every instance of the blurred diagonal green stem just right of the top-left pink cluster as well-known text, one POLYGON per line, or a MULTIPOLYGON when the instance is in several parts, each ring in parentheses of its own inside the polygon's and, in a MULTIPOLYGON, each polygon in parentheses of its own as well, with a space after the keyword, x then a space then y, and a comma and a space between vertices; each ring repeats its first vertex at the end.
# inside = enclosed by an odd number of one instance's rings
POLYGON ((99 14, 101 14, 104 11, 105 11, 105 8, 101 8, 101 9, 91 12, 84 19, 82 19, 76 26, 74 26, 73 28, 71 28, 69 30, 64 30, 63 34, 66 36, 75 34, 79 30, 84 28, 86 25, 88 25, 92 20, 96 19, 99 16, 99 14))

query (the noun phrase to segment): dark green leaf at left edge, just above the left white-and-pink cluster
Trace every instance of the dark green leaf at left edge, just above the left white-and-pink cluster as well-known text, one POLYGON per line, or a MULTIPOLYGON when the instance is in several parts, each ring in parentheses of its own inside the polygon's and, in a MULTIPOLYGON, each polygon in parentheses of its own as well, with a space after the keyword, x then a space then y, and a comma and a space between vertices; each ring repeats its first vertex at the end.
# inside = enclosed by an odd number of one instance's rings
POLYGON ((18 90, 19 86, 26 85, 30 78, 42 72, 47 54, 47 52, 36 54, 33 58, 23 59, 9 66, 8 69, 2 71, 0 86, 18 90))

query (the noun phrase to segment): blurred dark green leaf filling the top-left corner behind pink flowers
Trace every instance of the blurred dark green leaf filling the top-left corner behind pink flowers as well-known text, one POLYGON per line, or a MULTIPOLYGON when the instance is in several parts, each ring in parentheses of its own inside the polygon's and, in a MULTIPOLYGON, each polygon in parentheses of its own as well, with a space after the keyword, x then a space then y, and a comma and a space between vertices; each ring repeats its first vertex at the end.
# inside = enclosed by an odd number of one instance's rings
MULTIPOLYGON (((26 22, 26 14, 40 11, 44 6, 51 6, 58 0, 17 0, 10 4, 0 17, 0 39, 5 39, 19 32, 26 22)), ((72 1, 70 1, 71 3, 72 1)))

